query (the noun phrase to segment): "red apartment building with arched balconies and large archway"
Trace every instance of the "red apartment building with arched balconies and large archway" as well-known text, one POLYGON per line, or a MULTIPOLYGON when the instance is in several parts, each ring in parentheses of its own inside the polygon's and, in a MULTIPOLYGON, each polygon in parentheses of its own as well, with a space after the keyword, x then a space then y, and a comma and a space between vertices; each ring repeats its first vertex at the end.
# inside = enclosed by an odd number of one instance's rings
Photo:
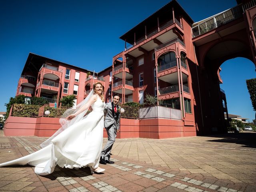
POLYGON ((223 133, 228 110, 220 66, 235 57, 256 65, 255 17, 255 0, 237 0, 237 6, 194 22, 172 0, 120 37, 124 50, 101 72, 30 53, 16 95, 44 97, 54 106, 58 98, 74 93, 79 103, 100 81, 106 101, 114 93, 122 102, 142 103, 146 94, 162 100, 153 116, 153 108, 142 108, 138 119, 122 118, 118 138, 223 133))

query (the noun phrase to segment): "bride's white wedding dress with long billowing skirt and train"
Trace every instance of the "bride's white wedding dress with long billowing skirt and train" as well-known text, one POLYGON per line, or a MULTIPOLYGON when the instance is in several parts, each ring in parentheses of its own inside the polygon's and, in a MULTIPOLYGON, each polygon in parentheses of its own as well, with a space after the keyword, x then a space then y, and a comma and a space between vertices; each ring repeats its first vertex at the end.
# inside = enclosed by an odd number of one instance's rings
POLYGON ((48 175, 56 165, 65 168, 91 166, 97 168, 102 151, 105 102, 97 96, 92 112, 58 134, 50 145, 22 158, 0 164, 16 166, 29 164, 38 175, 48 175))

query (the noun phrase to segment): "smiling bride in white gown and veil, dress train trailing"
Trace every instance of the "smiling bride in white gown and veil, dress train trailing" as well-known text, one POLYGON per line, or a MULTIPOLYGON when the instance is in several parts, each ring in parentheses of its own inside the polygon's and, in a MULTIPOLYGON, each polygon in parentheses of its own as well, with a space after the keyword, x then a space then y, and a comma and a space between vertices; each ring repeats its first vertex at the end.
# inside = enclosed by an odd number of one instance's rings
POLYGON ((91 173, 103 172, 99 167, 102 151, 104 127, 104 88, 100 82, 93 85, 88 96, 76 106, 64 113, 67 118, 60 118, 62 127, 48 140, 43 142, 42 149, 0 164, 2 166, 26 165, 35 166, 35 173, 48 175, 56 165, 65 168, 90 167, 91 173), (92 112, 84 116, 88 108, 92 112))

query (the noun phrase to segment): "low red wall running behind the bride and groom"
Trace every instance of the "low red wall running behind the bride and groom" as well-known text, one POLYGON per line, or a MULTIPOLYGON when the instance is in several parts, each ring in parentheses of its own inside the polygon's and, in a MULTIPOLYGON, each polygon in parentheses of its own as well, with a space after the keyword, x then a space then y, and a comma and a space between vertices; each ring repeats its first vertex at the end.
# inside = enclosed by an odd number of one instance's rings
MULTIPOLYGON (((59 128, 59 118, 9 116, 4 124, 4 135, 50 137, 59 128)), ((107 137, 105 129, 103 136, 107 137)), ((193 123, 188 124, 183 120, 122 118, 116 138, 163 139, 187 136, 196 136, 196 128, 193 123)))

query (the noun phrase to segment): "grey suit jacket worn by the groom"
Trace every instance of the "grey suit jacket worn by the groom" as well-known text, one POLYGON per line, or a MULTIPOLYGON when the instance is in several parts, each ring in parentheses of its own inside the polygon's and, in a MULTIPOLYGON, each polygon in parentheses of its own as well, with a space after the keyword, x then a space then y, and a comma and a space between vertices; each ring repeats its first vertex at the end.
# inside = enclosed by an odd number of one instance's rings
MULTIPOLYGON (((114 106, 114 105, 113 105, 114 106)), ((116 130, 119 130, 120 127, 120 107, 117 105, 117 118, 114 118, 114 109, 112 108, 112 102, 106 103, 106 106, 104 108, 104 114, 105 114, 105 120, 104 120, 104 126, 105 128, 110 128, 115 124, 116 130)))

